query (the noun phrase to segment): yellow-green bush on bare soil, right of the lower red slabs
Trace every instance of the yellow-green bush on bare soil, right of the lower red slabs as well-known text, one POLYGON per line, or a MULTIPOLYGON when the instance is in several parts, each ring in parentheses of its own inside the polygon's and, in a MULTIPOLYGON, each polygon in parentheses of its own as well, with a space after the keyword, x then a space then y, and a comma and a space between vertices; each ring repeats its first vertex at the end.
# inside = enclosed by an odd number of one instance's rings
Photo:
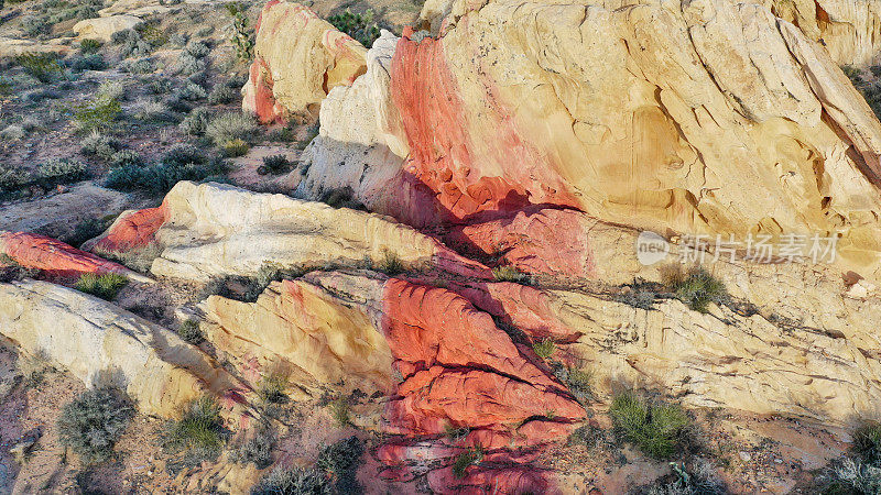
POLYGON ((624 393, 612 399, 609 416, 616 432, 646 455, 666 459, 682 448, 690 420, 675 405, 650 404, 624 393))

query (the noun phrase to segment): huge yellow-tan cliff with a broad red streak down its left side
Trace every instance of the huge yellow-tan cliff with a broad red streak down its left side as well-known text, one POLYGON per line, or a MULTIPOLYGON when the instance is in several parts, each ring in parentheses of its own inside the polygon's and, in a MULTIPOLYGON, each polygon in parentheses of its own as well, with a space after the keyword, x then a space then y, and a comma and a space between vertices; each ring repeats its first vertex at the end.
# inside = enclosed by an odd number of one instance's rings
MULTIPOLYGON (((368 72, 388 88, 366 74, 328 98, 363 109, 361 140, 328 106, 298 193, 345 183, 420 227, 550 206, 665 232, 840 232, 842 266, 878 278, 881 124, 823 46, 759 3, 606 3, 469 4, 390 63, 387 36, 368 72)), ((539 254, 561 246, 583 250, 539 254)))

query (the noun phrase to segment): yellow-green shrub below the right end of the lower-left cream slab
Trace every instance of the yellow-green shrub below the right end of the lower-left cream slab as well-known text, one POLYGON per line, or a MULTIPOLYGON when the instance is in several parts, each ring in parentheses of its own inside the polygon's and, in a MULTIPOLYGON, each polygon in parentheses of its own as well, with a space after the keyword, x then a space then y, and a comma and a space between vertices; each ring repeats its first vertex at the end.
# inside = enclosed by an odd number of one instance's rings
POLYGON ((166 428, 163 448, 171 453, 183 453, 186 465, 216 459, 224 444, 220 406, 210 396, 191 402, 180 420, 166 428))

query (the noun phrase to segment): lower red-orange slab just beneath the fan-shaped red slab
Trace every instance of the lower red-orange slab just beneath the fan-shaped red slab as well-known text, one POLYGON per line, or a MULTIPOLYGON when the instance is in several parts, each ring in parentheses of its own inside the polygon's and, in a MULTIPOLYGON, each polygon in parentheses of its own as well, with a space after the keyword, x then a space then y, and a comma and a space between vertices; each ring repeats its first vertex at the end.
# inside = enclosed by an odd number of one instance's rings
MULTIPOLYGON (((387 429, 398 435, 438 435, 449 425, 516 428, 551 415, 558 421, 585 417, 584 408, 562 393, 479 369, 432 366, 406 378, 398 395, 385 410, 387 429)), ((551 433, 547 441, 554 439, 551 433)))

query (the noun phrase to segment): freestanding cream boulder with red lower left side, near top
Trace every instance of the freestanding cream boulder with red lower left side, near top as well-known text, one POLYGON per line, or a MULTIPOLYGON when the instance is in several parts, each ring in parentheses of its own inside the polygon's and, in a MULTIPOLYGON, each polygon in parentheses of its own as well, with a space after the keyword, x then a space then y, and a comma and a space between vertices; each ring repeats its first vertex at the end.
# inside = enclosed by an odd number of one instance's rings
POLYGON ((366 48, 303 6, 278 0, 257 24, 254 62, 242 107, 262 122, 314 111, 339 85, 365 73, 366 48))

